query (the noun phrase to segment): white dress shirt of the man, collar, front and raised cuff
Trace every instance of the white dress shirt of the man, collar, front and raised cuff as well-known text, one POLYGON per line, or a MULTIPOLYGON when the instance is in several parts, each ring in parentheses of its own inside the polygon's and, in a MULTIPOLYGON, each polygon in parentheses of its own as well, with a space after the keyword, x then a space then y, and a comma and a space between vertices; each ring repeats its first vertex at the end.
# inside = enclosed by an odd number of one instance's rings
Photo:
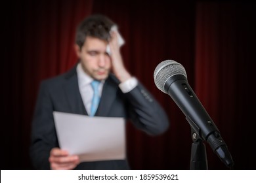
MULTIPOLYGON (((93 99, 93 88, 91 86, 91 82, 93 81, 93 78, 91 78, 91 76, 87 75, 87 73, 83 71, 83 68, 81 67, 81 63, 77 64, 76 70, 77 70, 79 92, 81 93, 83 105, 85 105, 87 113, 89 114, 90 108, 91 108, 91 101, 93 99)), ((102 88, 103 88, 104 82, 105 80, 102 80, 100 82, 100 85, 98 86, 100 96, 102 95, 102 88)), ((133 90, 133 88, 135 88, 137 84, 138 84, 137 78, 132 77, 129 80, 126 80, 125 82, 120 83, 119 88, 123 93, 127 93, 133 90)))

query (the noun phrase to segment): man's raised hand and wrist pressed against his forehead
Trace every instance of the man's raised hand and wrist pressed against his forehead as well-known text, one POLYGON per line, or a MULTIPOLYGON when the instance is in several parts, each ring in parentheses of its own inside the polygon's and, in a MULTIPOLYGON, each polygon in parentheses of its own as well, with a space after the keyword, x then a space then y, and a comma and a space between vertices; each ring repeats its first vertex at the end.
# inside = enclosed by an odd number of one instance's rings
POLYGON ((125 82, 125 80, 131 78, 131 75, 123 65, 123 58, 121 56, 116 31, 111 31, 111 40, 109 44, 111 50, 110 57, 112 58, 112 71, 120 82, 125 82))

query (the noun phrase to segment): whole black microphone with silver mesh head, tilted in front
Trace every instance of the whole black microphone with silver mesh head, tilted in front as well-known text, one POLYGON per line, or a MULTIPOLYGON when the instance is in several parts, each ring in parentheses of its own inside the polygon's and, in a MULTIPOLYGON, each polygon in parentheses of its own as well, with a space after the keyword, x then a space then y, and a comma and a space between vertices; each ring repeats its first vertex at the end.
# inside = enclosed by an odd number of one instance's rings
POLYGON ((228 147, 219 129, 188 84, 186 71, 181 63, 174 60, 159 63, 154 71, 154 82, 159 90, 171 96, 181 108, 192 129, 200 135, 203 141, 209 143, 221 161, 227 167, 232 168, 234 161, 228 147))

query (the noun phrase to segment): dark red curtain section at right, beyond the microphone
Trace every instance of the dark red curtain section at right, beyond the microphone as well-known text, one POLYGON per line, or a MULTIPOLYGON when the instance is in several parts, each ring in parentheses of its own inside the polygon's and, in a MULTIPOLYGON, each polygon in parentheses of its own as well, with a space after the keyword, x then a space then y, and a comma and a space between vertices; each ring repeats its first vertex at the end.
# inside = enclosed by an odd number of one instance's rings
MULTIPOLYGON (((200 2, 196 14, 196 93, 221 131, 237 169, 255 169, 255 3, 200 2)), ((209 149, 208 155, 213 154, 209 149)), ((213 155, 209 166, 225 168, 213 155)))

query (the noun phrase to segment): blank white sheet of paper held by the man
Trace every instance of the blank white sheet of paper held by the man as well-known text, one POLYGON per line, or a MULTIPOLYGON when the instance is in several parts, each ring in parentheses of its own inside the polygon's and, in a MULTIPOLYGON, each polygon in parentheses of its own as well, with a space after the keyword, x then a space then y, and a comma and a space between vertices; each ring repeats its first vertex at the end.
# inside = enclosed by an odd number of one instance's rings
POLYGON ((60 148, 81 161, 125 159, 124 118, 53 112, 60 148))

